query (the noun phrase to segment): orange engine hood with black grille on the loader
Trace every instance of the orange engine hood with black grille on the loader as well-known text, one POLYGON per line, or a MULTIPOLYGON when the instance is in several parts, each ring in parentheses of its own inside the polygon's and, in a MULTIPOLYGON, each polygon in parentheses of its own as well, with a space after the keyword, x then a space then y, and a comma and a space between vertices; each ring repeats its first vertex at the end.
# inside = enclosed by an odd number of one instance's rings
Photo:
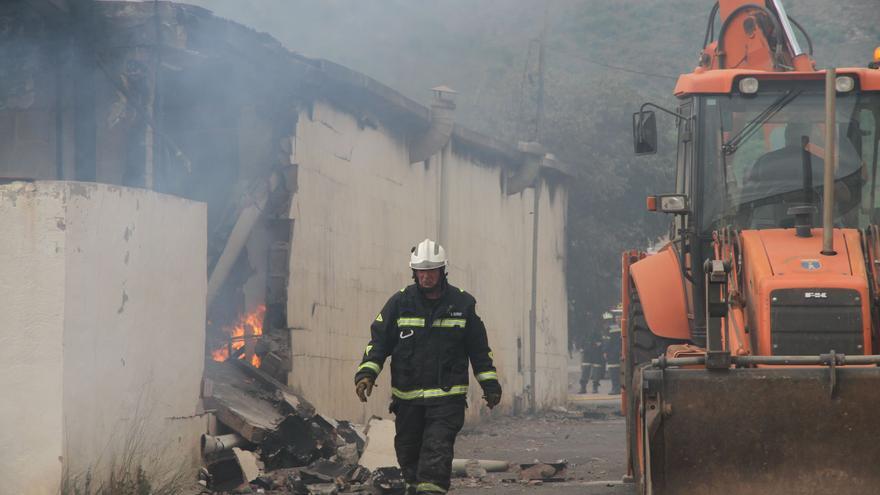
POLYGON ((856 229, 834 229, 833 239, 837 254, 825 256, 822 229, 806 238, 795 236, 794 229, 741 232, 744 325, 750 328, 753 353, 871 349, 861 235, 856 229))

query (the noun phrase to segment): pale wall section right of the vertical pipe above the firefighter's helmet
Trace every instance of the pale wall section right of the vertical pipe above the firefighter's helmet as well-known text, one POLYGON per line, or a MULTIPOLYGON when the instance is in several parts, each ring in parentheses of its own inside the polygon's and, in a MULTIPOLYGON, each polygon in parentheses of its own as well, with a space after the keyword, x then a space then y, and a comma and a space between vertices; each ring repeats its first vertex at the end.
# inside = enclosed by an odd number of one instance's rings
MULTIPOLYGON (((499 189, 499 168, 476 164, 467 157, 444 153, 446 199, 443 244, 450 253, 450 278, 477 297, 489 333, 502 386, 502 405, 516 394, 528 403, 529 309, 532 287, 532 229, 535 190, 507 196, 499 189), (521 356, 517 338, 521 339, 521 356), (521 371, 518 370, 521 360, 521 371)), ((536 390, 539 408, 564 404, 568 356, 568 314, 565 286, 564 187, 541 182, 538 225, 536 390)), ((471 384, 471 397, 480 388, 471 384)), ((476 412, 474 409, 471 414, 476 412)))

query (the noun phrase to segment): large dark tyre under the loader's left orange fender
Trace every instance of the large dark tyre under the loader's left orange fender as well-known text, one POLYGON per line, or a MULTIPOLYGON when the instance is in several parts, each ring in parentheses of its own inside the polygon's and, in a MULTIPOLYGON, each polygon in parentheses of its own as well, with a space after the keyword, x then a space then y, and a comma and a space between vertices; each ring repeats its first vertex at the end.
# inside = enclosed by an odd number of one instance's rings
POLYGON ((623 369, 623 383, 626 387, 626 438, 631 472, 633 481, 640 487, 642 485, 639 469, 639 436, 638 428, 641 424, 639 408, 639 393, 637 384, 640 382, 641 368, 647 367, 652 359, 666 353, 666 348, 675 344, 686 344, 686 340, 667 339, 655 335, 648 327, 639 293, 635 284, 630 280, 629 290, 629 315, 626 328, 626 365, 623 369))

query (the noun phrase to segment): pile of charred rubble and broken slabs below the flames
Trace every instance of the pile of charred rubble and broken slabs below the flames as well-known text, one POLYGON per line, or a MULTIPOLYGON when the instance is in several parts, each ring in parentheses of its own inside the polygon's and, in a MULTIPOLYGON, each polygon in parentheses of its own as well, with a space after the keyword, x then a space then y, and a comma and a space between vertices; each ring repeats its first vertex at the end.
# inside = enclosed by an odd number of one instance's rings
POLYGON ((209 361, 205 376, 214 421, 202 438, 201 482, 209 493, 404 493, 398 468, 360 464, 367 436, 357 425, 322 416, 244 360, 209 361))

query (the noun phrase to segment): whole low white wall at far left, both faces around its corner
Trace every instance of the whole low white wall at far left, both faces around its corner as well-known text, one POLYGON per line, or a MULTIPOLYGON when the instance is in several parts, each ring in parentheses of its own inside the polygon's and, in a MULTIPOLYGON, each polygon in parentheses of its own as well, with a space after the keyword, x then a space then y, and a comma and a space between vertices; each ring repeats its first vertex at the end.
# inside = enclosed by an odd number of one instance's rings
POLYGON ((0 240, 0 253, 18 258, 0 257, 0 280, 19 279, 34 296, 10 300, 14 288, 0 285, 9 344, 0 352, 30 363, 0 374, 0 387, 14 384, 22 397, 14 414, 0 408, 2 431, 16 437, 0 453, 4 490, 55 494, 62 475, 88 471, 96 486, 126 454, 155 484, 177 473, 191 480, 204 429, 195 416, 204 205, 102 184, 15 183, 0 186, 0 218, 4 233, 27 234, 0 240))

